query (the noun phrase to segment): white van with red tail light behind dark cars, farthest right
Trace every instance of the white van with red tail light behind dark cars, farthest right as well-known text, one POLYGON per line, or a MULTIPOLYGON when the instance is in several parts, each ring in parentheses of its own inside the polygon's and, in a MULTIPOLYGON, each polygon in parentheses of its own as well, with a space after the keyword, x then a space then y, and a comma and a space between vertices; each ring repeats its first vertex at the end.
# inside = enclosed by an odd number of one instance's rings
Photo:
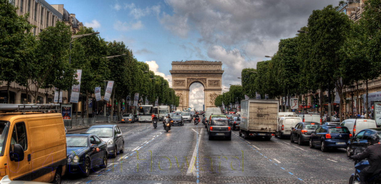
POLYGON ((373 119, 346 119, 340 125, 346 126, 353 136, 361 130, 377 128, 376 121, 373 119))

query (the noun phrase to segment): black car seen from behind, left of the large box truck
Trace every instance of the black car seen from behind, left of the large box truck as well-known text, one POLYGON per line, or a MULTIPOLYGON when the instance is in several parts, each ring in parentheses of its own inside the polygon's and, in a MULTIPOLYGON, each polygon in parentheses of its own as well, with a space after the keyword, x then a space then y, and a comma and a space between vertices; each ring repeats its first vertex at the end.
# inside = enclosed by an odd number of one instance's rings
POLYGON ((227 118, 213 118, 208 129, 209 140, 215 137, 224 137, 232 140, 232 130, 227 118))

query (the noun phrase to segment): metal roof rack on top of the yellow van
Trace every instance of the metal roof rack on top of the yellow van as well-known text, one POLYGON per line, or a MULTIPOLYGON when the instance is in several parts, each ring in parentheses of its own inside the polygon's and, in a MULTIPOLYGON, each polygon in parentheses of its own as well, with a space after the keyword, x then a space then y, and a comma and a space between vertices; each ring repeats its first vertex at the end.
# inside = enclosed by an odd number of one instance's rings
POLYGON ((60 109, 60 104, 0 104, 0 113, 12 112, 42 112, 56 111, 60 109))

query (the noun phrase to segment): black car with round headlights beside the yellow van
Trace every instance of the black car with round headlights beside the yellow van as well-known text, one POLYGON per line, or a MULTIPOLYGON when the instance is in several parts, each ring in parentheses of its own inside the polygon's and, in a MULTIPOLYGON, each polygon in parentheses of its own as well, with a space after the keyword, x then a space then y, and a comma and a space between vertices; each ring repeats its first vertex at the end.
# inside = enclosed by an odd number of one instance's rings
POLYGON ((67 173, 88 177, 90 170, 107 167, 106 142, 94 134, 66 134, 67 173))

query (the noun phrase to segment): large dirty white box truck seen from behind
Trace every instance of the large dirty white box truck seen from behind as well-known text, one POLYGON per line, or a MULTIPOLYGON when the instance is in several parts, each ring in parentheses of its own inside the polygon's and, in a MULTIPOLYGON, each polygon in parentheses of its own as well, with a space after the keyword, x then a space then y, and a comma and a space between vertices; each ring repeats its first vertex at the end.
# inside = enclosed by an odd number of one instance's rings
POLYGON ((259 136, 270 140, 277 130, 278 109, 278 100, 242 100, 239 135, 245 139, 259 136))

